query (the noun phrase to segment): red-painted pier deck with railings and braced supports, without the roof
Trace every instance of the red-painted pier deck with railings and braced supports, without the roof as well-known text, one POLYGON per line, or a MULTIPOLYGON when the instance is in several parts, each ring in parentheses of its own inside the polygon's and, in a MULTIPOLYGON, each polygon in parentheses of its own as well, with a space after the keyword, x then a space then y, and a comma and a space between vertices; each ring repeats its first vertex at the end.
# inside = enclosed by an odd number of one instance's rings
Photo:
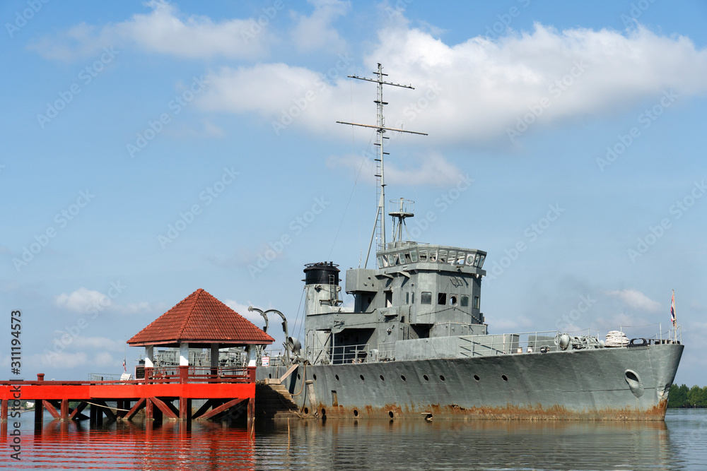
POLYGON ((250 427, 255 415, 255 367, 209 368, 178 366, 146 368, 146 378, 129 381, 1 381, 0 419, 8 419, 20 400, 35 401, 35 427, 42 427, 44 411, 55 419, 130 420, 144 410, 147 420, 204 420, 240 416, 250 427), (192 414, 192 400, 205 400, 192 414), (17 402, 15 402, 17 401, 17 402), (115 402, 112 407, 107 403, 115 402), (75 407, 70 407, 74 403, 75 407), (78 403, 78 404, 76 404, 78 403), (89 406, 90 415, 84 414, 89 406), (115 412, 114 412, 115 411, 115 412))

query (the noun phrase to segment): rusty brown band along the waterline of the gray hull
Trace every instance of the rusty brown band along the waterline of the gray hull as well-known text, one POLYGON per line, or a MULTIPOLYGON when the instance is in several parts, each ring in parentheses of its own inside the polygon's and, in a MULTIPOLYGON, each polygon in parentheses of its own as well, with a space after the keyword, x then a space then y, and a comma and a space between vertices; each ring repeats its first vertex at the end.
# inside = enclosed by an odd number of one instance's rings
POLYGON ((427 407, 404 408, 397 404, 387 404, 383 407, 365 405, 329 406, 320 403, 317 409, 310 411, 303 418, 322 418, 320 412, 330 419, 425 419, 427 412, 433 419, 493 419, 493 420, 599 420, 599 421, 662 421, 667 410, 667 398, 660 400, 658 405, 648 410, 636 410, 631 407, 621 409, 604 407, 600 410, 570 411, 561 405, 543 407, 542 405, 519 406, 508 404, 505 407, 472 407, 464 408, 458 405, 431 404, 427 407), (357 414, 354 414, 354 411, 357 414), (317 412, 315 414, 315 412, 317 412), (390 417, 390 412, 393 417, 390 417))

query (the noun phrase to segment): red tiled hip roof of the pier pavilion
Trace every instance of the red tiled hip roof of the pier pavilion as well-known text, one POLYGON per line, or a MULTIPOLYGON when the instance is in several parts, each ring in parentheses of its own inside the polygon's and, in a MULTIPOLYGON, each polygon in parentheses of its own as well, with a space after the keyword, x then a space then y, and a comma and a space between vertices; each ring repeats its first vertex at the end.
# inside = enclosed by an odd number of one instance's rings
POLYGON ((204 290, 196 290, 128 340, 129 345, 179 342, 271 344, 275 339, 204 290))

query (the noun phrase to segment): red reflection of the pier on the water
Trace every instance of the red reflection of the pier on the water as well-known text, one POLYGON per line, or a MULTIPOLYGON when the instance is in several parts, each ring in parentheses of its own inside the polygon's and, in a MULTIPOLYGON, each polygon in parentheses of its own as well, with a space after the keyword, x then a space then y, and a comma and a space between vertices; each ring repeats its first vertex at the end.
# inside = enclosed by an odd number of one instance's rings
MULTIPOLYGON (((54 420, 25 431, 16 469, 252 469, 254 441, 246 429, 204 422, 115 422, 90 429, 54 420), (226 466, 224 466, 226 464, 226 466)), ((10 463, 6 463, 10 464, 10 463)))

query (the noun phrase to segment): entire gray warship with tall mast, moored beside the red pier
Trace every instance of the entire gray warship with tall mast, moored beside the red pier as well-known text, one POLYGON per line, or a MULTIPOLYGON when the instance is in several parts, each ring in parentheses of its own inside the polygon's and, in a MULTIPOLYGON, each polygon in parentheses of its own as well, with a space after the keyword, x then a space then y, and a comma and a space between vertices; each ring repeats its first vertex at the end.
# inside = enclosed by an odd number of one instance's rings
MULTIPOLYGON (((684 345, 677 326, 653 338, 560 331, 489 333, 481 313, 486 252, 404 239, 412 202, 394 203, 385 236, 383 85, 378 64, 376 268, 304 268, 303 345, 257 353, 257 379, 309 417, 662 420, 684 345)), ((277 311, 278 314, 279 311, 277 311)), ((261 314, 262 311, 261 311, 261 314)), ((267 320, 267 316, 266 316, 267 320)), ((283 316, 286 330, 286 320, 283 316)), ((267 328, 267 326, 266 326, 267 328)))

